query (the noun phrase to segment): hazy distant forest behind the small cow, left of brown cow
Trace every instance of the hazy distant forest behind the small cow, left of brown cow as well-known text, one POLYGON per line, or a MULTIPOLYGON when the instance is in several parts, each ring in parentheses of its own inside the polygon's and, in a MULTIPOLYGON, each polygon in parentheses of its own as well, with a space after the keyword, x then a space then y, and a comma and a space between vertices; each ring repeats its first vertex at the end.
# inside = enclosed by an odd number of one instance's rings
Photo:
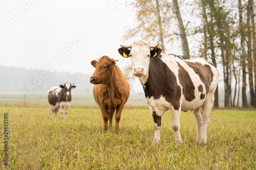
POLYGON ((91 75, 70 74, 69 72, 47 72, 38 69, 25 69, 0 65, 0 92, 46 92, 52 86, 62 83, 75 83, 74 92, 92 92, 91 75))

